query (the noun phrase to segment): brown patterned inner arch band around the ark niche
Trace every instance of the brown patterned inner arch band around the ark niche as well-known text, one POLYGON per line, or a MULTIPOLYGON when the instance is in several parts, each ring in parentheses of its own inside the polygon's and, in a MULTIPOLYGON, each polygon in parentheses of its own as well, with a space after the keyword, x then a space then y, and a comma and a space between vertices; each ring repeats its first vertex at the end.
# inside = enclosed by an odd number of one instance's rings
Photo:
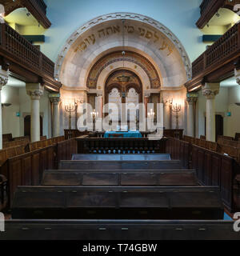
MULTIPOLYGON (((149 89, 158 89, 161 86, 160 78, 158 76, 157 70, 154 68, 152 63, 141 54, 134 53, 132 51, 126 51, 124 57, 122 57, 121 51, 116 51, 111 54, 100 58, 98 62, 94 64, 91 68, 90 73, 87 78, 86 87, 89 89, 97 89, 97 82, 99 75, 106 66, 110 66, 114 62, 133 62, 134 64, 141 66, 150 80, 149 89)), ((137 66, 136 66, 137 67, 137 66)))

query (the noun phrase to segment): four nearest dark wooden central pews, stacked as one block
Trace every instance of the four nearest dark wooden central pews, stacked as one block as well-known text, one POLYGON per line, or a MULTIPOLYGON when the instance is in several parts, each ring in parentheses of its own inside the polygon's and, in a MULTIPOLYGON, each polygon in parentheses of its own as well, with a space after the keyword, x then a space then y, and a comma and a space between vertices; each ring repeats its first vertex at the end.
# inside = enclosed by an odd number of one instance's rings
POLYGON ((18 187, 14 219, 6 221, 0 239, 239 239, 234 222, 219 220, 218 187, 198 186, 194 170, 177 170, 177 163, 125 161, 117 170, 104 161, 102 170, 91 170, 91 163, 62 161, 69 170, 45 170, 42 186, 18 187), (136 164, 139 169, 126 169, 136 164))

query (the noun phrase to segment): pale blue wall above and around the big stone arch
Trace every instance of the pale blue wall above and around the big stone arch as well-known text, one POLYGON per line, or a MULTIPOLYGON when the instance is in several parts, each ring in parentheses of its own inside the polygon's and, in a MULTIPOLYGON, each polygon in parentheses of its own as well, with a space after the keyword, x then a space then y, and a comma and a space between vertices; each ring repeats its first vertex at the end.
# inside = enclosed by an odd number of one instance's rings
POLYGON ((99 15, 114 12, 142 14, 167 26, 182 42, 190 60, 206 50, 202 32, 195 25, 200 17, 201 0, 46 0, 47 17, 52 22, 46 30, 41 50, 54 62, 67 38, 80 26, 99 15))

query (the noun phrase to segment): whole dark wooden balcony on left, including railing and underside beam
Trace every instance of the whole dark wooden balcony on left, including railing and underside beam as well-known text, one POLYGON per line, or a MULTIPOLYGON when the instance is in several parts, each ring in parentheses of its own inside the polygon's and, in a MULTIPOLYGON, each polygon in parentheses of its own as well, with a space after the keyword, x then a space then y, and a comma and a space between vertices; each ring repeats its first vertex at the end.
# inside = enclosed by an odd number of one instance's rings
POLYGON ((0 24, 0 56, 11 72, 26 82, 42 82, 50 90, 59 90, 61 83, 54 79, 54 62, 6 23, 0 24))

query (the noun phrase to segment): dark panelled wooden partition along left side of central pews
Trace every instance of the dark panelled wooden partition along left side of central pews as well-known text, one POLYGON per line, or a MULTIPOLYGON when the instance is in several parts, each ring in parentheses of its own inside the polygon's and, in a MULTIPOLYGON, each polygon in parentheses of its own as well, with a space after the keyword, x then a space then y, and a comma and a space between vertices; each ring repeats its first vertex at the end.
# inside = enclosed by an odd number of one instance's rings
POLYGON ((38 186, 43 170, 57 169, 60 160, 70 160, 77 153, 75 138, 57 142, 28 153, 9 156, 0 166, 0 174, 9 184, 8 202, 11 204, 17 186, 38 186))

